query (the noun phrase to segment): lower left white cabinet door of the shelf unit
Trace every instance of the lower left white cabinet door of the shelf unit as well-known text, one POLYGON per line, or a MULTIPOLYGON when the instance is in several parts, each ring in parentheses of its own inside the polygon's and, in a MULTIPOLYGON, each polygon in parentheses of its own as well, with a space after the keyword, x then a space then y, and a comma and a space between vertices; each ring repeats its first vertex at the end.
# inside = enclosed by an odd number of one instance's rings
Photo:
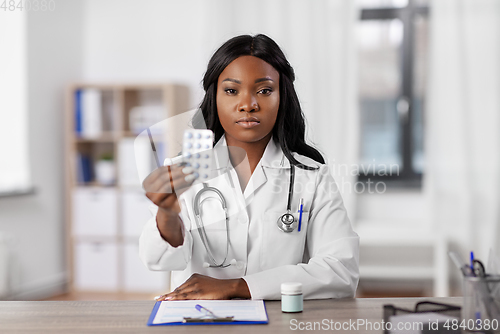
POLYGON ((115 243, 79 241, 74 249, 76 289, 118 290, 118 247, 115 243))

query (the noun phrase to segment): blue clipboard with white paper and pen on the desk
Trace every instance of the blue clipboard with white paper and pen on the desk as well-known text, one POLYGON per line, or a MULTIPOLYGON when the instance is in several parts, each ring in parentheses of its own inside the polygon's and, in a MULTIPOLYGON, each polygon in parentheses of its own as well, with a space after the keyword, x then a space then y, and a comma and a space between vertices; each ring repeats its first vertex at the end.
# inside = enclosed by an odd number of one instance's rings
POLYGON ((268 324, 262 300, 179 300, 156 302, 148 326, 268 324), (206 312, 202 312, 204 309, 206 312))

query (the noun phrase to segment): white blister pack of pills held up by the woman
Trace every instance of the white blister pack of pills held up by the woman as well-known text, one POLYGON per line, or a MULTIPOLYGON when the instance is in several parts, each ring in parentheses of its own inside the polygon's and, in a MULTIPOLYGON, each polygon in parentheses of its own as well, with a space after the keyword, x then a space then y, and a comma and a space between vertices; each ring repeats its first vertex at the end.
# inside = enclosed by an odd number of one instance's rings
POLYGON ((194 169, 199 180, 207 180, 212 169, 214 133, 212 130, 189 129, 184 131, 182 160, 194 169))

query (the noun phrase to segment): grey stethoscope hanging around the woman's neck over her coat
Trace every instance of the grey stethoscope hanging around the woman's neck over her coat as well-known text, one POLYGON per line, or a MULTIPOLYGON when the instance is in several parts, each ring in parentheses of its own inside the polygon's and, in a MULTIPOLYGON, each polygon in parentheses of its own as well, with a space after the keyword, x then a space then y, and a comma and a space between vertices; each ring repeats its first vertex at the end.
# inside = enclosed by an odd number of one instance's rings
MULTIPOLYGON (((288 202, 287 202, 287 207, 286 207, 286 212, 282 214, 277 221, 278 228, 285 232, 285 233, 290 233, 293 230, 295 230, 295 217, 292 214, 292 197, 293 197, 293 186, 295 183, 295 167, 294 165, 290 164, 290 185, 288 189, 288 202)), ((203 267, 205 268, 227 268, 231 265, 238 265, 238 262, 233 259, 231 260, 230 263, 226 263, 227 256, 229 254, 229 216, 228 216, 228 210, 227 210, 227 202, 226 199, 224 198, 224 195, 222 192, 215 188, 215 187, 209 187, 205 182, 203 183, 203 188, 198 191, 194 197, 193 200, 193 212, 195 216, 195 222, 196 222, 196 227, 198 229, 198 233, 200 234, 200 239, 201 242, 203 243, 203 247, 205 247, 205 250, 207 251, 208 259, 210 260, 211 264, 208 262, 203 263, 203 267), (203 200, 200 201, 201 195, 207 192, 214 192, 217 194, 217 200, 221 203, 222 209, 224 210, 224 215, 225 215, 225 223, 226 223, 226 252, 224 255, 224 259, 222 262, 217 262, 215 260, 215 257, 212 253, 212 250, 210 248, 209 242, 208 242, 208 236, 205 231, 205 225, 203 224, 203 219, 201 218, 201 206, 204 201, 211 199, 213 197, 206 197, 203 200)))

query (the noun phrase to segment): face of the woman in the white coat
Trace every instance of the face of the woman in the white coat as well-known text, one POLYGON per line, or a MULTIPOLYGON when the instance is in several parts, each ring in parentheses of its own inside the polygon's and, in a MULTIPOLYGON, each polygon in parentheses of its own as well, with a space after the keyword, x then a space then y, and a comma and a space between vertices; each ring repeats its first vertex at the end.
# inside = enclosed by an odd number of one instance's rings
POLYGON ((254 56, 233 60, 217 82, 217 112, 228 145, 269 141, 280 104, 279 73, 254 56))

